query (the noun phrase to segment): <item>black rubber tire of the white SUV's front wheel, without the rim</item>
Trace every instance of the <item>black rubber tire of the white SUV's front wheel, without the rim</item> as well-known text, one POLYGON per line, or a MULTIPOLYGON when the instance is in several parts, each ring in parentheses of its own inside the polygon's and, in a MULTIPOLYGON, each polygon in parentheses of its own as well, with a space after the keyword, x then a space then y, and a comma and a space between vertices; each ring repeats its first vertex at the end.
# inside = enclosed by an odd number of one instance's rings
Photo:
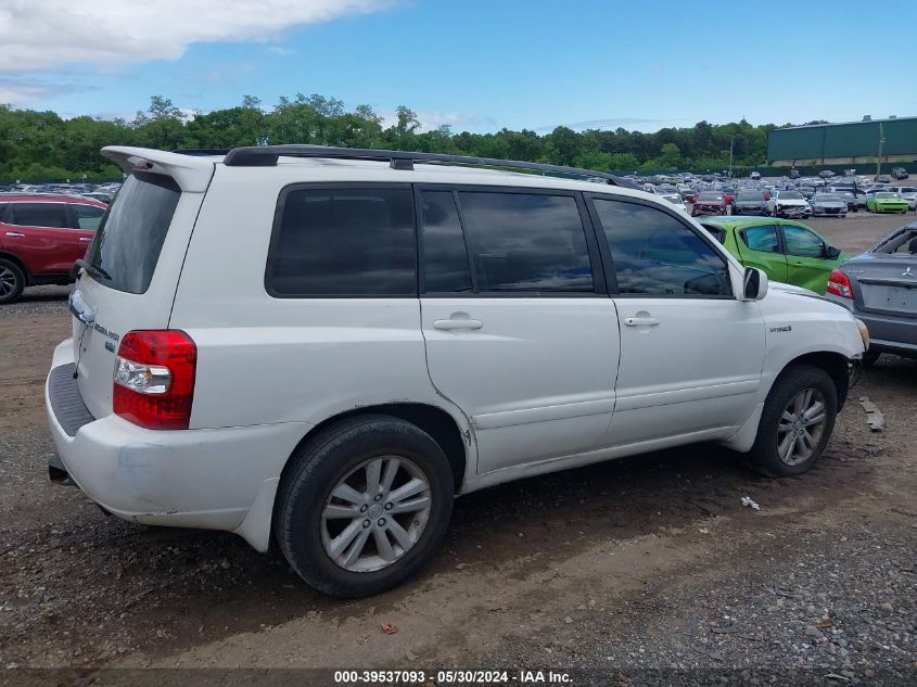
POLYGON ((831 438, 837 415, 838 391, 825 370, 811 365, 793 365, 787 368, 774 382, 767 400, 764 402, 757 437, 749 451, 752 467, 768 478, 801 474, 811 470, 831 438), (811 455, 795 465, 789 465, 778 455, 777 430, 784 410, 801 392, 810 389, 819 392, 824 398, 825 421, 811 455))

